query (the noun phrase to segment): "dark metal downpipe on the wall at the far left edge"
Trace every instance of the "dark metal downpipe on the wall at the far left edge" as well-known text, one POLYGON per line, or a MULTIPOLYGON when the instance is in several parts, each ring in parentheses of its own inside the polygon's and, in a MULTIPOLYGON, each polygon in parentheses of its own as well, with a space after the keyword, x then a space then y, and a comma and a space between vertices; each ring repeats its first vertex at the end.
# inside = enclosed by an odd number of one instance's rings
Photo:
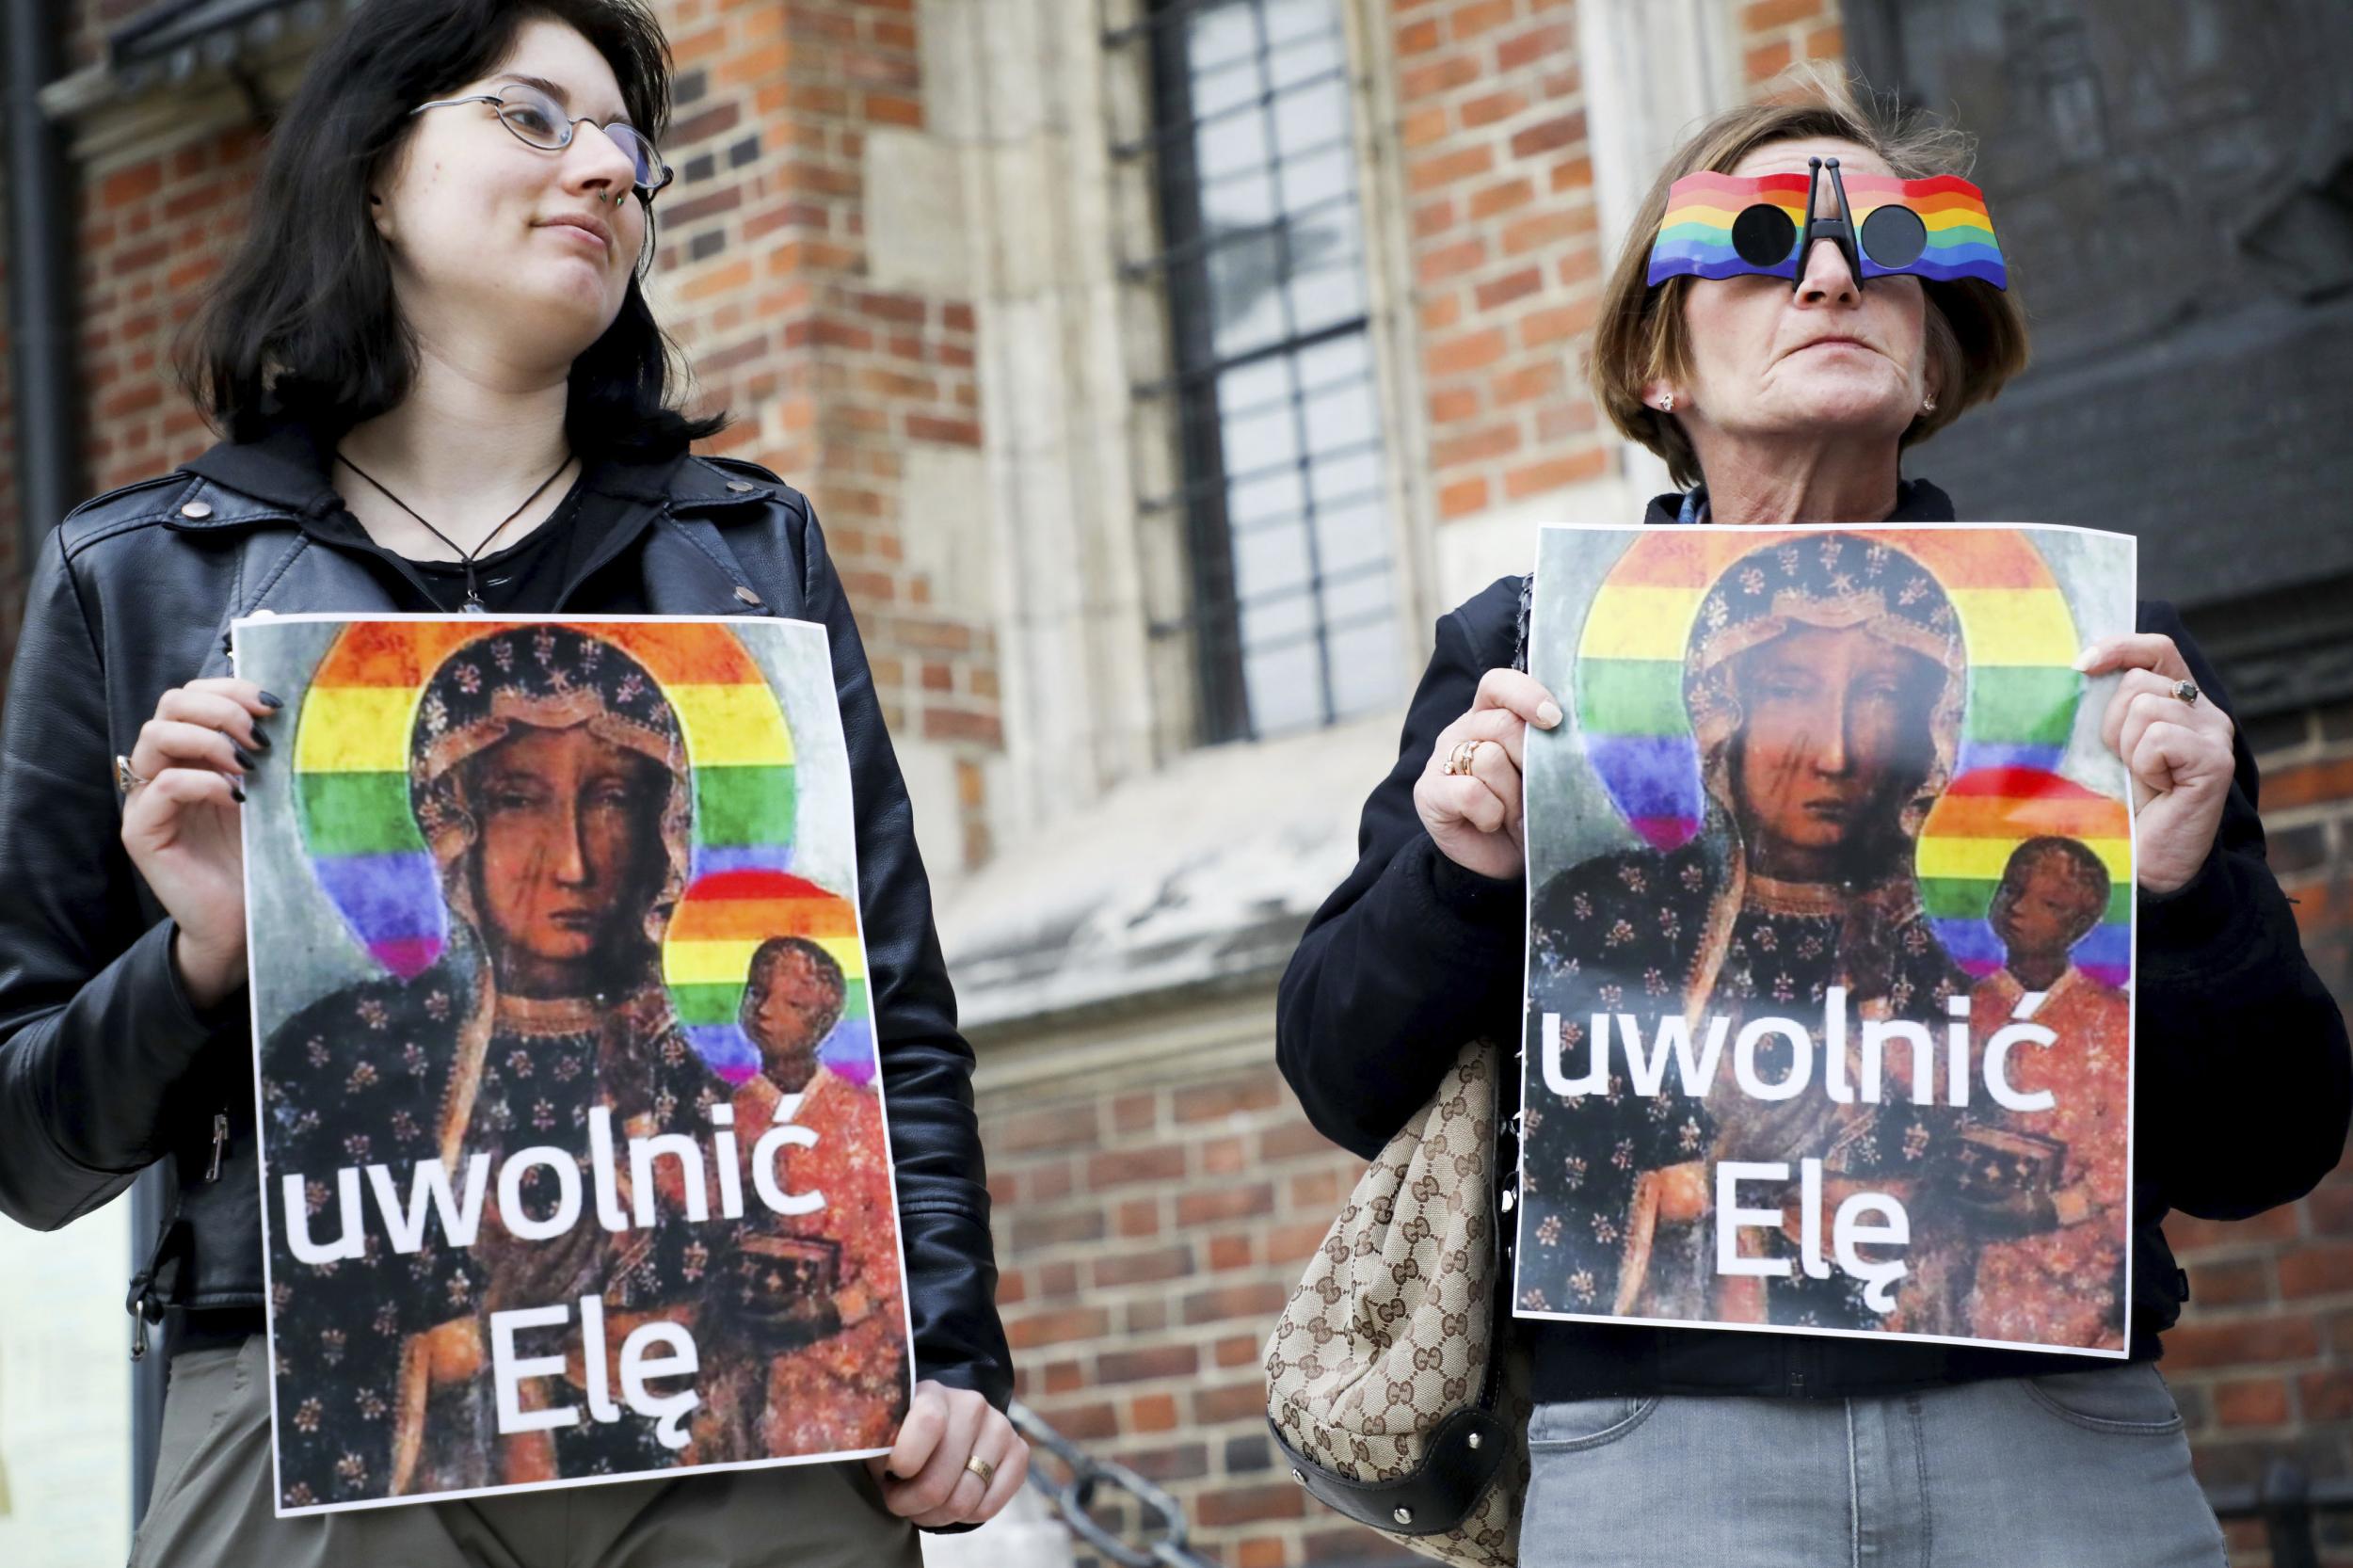
POLYGON ((59 75, 59 24, 71 7, 0 0, 7 61, 7 315, 16 393, 16 572, 82 499, 75 431, 73 186, 64 137, 40 113, 59 75))

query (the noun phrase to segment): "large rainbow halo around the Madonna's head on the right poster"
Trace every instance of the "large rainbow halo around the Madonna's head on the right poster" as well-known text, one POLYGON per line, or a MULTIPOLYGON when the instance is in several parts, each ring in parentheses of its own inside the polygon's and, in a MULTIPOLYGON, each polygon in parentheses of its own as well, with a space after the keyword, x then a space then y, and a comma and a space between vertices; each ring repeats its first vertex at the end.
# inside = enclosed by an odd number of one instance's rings
MULTIPOLYGON (((2073 669, 2075 617, 2033 542, 2002 527, 1840 532, 1908 553, 1953 600, 1969 655, 1953 772, 2057 768, 2085 680, 2073 669)), ((1602 789, 1645 843, 1680 848, 1706 815, 1699 742, 1682 706, 1682 657, 1708 586, 1755 549, 1814 534, 1645 530, 1595 591, 1577 647, 1577 723, 1602 789)))

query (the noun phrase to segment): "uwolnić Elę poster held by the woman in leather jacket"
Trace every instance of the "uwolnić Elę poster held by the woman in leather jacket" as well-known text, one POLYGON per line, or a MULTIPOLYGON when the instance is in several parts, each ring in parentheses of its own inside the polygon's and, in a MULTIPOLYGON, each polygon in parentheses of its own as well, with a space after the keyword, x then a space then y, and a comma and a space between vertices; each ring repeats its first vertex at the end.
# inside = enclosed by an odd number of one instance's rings
POLYGON ((904 1257, 824 626, 256 617, 280 1516, 882 1453, 904 1257))

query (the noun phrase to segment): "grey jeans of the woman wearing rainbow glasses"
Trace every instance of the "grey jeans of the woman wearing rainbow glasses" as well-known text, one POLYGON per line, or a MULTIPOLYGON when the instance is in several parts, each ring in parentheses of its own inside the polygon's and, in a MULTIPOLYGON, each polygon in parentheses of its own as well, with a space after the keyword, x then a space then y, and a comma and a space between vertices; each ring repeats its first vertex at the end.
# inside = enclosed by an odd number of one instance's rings
POLYGON ((1539 1406, 1522 1568, 2221 1568, 2153 1366, 1539 1406))

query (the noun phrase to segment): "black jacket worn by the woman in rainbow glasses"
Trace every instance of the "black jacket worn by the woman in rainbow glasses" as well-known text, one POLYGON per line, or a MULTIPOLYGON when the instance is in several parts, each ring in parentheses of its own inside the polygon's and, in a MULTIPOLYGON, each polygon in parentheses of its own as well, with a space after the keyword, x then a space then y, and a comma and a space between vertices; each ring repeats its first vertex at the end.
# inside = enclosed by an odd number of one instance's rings
MULTIPOLYGON (((1673 501, 1652 501, 1645 520, 1673 525, 1673 501)), ((1941 492, 1915 483, 1892 520, 1951 516, 1941 492)), ((1428 1099, 1464 1043, 1520 1038, 1527 888, 1464 871, 1414 812, 1414 779, 1438 732, 1471 709, 1485 671, 1513 662, 1520 584, 1506 577, 1438 622, 1398 765, 1365 803, 1355 871, 1315 911, 1282 975, 1282 1076, 1325 1137, 1367 1158, 1428 1099)), ((2172 605, 2144 603, 2139 629, 2174 638, 2207 699, 2228 711, 2221 680, 2172 605)), ((2337 1165, 2353 1109, 2344 1015, 2304 961, 2294 913, 2264 864, 2254 798, 2254 756, 2240 737, 2238 782, 2207 864, 2181 890, 2139 902, 2134 1358, 2158 1356, 2158 1330, 2181 1316, 2188 1295, 2158 1229, 2165 1212, 2238 1220, 2304 1196, 2337 1165)), ((1842 1396, 2113 1366, 1732 1330, 1522 1328, 1541 1398, 1842 1396)))

